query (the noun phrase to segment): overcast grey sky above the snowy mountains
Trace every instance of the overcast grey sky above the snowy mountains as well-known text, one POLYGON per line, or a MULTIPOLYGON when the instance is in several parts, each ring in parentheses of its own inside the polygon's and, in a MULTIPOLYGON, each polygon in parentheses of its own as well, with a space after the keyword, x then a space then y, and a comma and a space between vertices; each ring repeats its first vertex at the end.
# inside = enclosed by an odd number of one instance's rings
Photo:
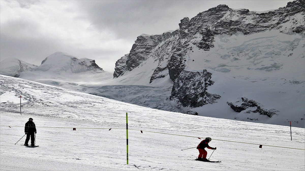
POLYGON ((0 0, 0 61, 17 58, 40 65, 62 51, 94 59, 105 71, 131 50, 141 34, 179 28, 180 20, 220 4, 232 9, 266 11, 286 0, 0 0))

